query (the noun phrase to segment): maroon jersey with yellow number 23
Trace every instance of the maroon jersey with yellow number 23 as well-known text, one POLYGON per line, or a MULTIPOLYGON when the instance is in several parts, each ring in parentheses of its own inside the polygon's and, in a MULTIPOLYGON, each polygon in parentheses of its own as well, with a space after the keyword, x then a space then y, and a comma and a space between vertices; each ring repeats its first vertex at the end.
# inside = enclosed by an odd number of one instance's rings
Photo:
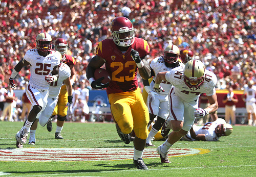
POLYGON ((139 52, 140 58, 150 53, 147 42, 136 37, 125 53, 121 52, 112 39, 105 39, 98 44, 96 54, 105 60, 105 68, 111 73, 107 94, 132 91, 138 87, 138 67, 131 57, 132 48, 139 52))

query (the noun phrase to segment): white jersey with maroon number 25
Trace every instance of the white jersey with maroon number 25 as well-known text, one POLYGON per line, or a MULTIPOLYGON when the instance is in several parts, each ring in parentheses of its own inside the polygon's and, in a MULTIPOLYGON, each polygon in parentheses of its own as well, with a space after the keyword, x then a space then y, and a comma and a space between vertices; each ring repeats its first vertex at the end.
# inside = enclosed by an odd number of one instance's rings
POLYGON ((37 49, 26 52, 24 60, 30 63, 29 84, 37 89, 47 90, 49 83, 45 80, 46 75, 51 75, 53 68, 60 64, 61 54, 55 50, 46 57, 38 54, 37 49))

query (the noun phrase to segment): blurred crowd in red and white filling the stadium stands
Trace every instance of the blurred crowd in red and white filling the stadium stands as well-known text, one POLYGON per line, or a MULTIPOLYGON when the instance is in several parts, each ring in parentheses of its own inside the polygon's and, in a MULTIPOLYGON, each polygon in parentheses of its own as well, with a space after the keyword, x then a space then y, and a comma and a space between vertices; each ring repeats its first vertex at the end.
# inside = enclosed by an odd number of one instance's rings
MULTIPOLYGON (((255 13, 253 0, 1 0, 0 82, 7 86, 13 67, 36 47, 40 32, 49 33, 53 41, 68 41, 77 61, 77 83, 86 80, 85 69, 98 42, 111 37, 111 21, 126 16, 136 36, 150 45, 149 60, 174 43, 191 49, 217 74, 217 89, 232 85, 241 90, 248 80, 256 82, 255 13)), ((17 89, 29 80, 29 68, 19 75, 17 89)))

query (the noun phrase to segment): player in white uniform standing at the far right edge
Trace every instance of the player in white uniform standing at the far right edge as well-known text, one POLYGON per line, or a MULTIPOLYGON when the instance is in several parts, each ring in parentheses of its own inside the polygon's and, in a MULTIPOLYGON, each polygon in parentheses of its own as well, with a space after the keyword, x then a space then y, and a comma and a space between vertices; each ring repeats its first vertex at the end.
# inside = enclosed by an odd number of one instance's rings
POLYGON ((245 102, 248 125, 252 125, 252 122, 253 122, 253 125, 255 126, 255 124, 256 124, 256 115, 255 115, 255 113, 256 113, 256 104, 255 104, 256 87, 253 86, 253 84, 254 84, 254 82, 252 80, 250 80, 248 82, 248 87, 244 88, 244 93, 242 94, 242 99, 245 102), (253 120, 251 120, 251 115, 252 115, 253 120))

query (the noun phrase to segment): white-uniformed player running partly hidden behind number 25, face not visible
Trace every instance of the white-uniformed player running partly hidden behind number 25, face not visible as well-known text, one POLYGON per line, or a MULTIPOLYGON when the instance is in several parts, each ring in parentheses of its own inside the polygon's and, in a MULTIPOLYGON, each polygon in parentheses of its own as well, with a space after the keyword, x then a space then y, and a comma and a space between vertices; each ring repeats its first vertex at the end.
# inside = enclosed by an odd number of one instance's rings
POLYGON ((37 122, 39 121, 40 125, 42 127, 45 127, 45 125, 51 118, 54 108, 57 105, 58 95, 63 83, 66 85, 67 91, 68 91, 69 102, 67 106, 70 111, 72 110, 71 105, 72 105, 73 96, 72 96, 72 85, 70 81, 70 76, 71 76, 70 67, 67 64, 61 62, 59 65, 59 78, 56 82, 52 82, 50 84, 48 102, 47 102, 46 108, 44 111, 37 114, 37 117, 36 117, 37 120, 35 120, 33 125, 31 126, 29 144, 35 145, 35 141, 36 141, 35 132, 37 129, 37 122))

